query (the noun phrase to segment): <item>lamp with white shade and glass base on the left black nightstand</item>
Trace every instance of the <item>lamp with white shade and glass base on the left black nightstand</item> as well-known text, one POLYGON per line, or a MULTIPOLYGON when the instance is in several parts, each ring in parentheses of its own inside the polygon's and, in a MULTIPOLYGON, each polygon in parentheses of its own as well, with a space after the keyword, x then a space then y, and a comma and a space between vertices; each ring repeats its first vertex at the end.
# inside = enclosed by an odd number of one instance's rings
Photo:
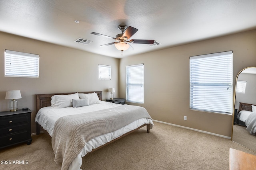
POLYGON ((10 111, 17 111, 18 101, 16 101, 15 99, 21 99, 20 90, 6 91, 5 99, 10 100, 9 102, 10 111))

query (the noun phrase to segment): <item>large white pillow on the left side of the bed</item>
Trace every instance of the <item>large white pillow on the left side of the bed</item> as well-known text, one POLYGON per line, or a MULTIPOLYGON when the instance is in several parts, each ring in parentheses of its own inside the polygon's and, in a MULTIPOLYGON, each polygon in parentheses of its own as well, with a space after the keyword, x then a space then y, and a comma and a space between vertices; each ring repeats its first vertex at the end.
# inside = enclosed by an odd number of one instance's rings
POLYGON ((72 99, 79 99, 78 93, 52 96, 52 108, 72 107, 72 99))

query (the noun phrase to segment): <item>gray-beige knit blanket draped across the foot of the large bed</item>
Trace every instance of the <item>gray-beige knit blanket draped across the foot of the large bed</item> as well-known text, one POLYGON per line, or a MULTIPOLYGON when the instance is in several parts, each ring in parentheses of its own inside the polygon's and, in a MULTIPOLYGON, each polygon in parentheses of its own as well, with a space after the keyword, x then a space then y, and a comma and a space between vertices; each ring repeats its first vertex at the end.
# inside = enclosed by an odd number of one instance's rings
POLYGON ((67 170, 86 142, 141 118, 151 119, 144 107, 130 105, 60 117, 54 125, 52 134, 54 160, 62 162, 61 169, 67 170))

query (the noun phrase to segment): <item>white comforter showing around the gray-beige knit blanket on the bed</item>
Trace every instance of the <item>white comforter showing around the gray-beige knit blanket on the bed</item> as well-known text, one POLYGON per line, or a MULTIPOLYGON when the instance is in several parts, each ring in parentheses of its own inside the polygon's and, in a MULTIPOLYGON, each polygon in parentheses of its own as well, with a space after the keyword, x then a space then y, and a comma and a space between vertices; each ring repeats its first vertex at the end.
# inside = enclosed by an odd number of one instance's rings
MULTIPOLYGON (((74 114, 80 114, 80 113, 89 113, 92 111, 98 111, 98 110, 108 109, 108 108, 118 107, 118 106, 120 105, 110 103, 110 102, 100 101, 100 104, 94 104, 90 106, 77 107, 77 108, 66 107, 66 108, 57 109, 57 108, 51 108, 51 107, 43 107, 36 114, 35 121, 39 123, 46 131, 48 131, 50 136, 52 136, 54 124, 57 121, 57 119, 62 116, 74 115, 74 114)), ((96 149, 97 147, 100 147, 105 143, 108 143, 109 141, 112 141, 113 139, 116 139, 122 136, 123 134, 136 129, 141 125, 148 124, 148 123, 153 125, 153 122, 151 119, 145 119, 145 118, 139 119, 134 121, 133 123, 130 123, 125 127, 122 127, 117 131, 98 136, 88 141, 84 146, 84 149, 73 160, 73 162, 70 164, 68 169, 69 170, 80 169, 82 165, 82 157, 85 156, 88 152, 91 152, 92 149, 96 149)))

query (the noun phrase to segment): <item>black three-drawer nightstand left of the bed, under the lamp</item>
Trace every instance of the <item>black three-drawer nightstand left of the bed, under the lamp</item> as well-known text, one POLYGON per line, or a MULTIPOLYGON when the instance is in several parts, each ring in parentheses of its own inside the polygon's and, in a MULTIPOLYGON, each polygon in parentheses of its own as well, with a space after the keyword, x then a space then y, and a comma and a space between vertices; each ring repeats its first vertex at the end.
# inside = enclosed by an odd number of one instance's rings
POLYGON ((31 144, 31 110, 0 112, 0 149, 18 143, 31 144))

